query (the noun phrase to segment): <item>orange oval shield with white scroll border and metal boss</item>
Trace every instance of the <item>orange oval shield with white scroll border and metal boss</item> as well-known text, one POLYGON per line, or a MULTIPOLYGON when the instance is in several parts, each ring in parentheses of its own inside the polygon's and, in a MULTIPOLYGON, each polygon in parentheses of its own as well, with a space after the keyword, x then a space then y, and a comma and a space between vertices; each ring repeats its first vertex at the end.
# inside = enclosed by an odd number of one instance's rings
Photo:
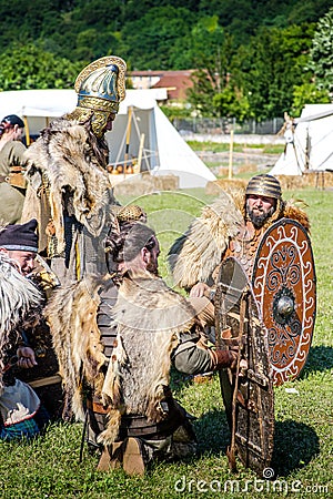
POLYGON ((279 386, 295 379, 304 367, 315 322, 313 254, 300 223, 282 218, 264 233, 252 287, 268 330, 273 383, 279 386))

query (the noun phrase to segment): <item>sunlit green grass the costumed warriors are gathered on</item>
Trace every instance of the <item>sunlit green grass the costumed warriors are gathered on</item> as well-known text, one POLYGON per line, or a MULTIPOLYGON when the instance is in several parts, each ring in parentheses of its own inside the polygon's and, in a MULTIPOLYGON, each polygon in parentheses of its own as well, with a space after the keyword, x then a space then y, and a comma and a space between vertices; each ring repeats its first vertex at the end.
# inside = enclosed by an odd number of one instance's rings
MULTIPOLYGON (((97 457, 87 450, 79 462, 82 425, 54 424, 43 438, 0 445, 1 499, 332 497, 333 192, 285 193, 285 197, 290 196, 309 204, 317 275, 317 317, 302 376, 275 389, 272 469, 276 481, 260 480, 241 465, 236 475, 230 473, 225 457, 230 435, 218 377, 194 385, 191 379, 175 376, 176 398, 198 418, 198 456, 176 464, 157 464, 144 478, 129 478, 122 470, 97 472, 97 457), (294 390, 289 393, 285 388, 294 390)), ((131 201, 150 214, 163 248, 161 272, 169 278, 163 263, 167 248, 211 198, 196 190, 131 201)))

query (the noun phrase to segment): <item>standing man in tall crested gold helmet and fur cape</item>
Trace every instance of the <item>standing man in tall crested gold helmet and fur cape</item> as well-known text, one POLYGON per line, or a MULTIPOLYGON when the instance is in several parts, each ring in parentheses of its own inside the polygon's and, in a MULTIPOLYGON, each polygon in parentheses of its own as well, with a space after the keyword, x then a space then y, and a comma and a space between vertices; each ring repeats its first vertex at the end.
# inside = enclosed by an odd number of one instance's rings
POLYGON ((101 271, 101 241, 115 204, 104 133, 125 95, 125 69, 113 55, 84 68, 75 80, 75 110, 52 121, 26 153, 22 222, 38 220, 39 251, 61 282, 101 271))

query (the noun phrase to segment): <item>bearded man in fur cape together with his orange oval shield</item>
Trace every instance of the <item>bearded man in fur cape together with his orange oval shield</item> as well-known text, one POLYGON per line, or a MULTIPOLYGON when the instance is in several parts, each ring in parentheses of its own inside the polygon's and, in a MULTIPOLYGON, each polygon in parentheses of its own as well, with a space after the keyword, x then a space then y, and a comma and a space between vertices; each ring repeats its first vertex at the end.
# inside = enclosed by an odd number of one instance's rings
MULTIPOLYGON (((282 198, 279 180, 261 174, 250 180, 244 193, 222 192, 169 252, 175 284, 188 288, 190 296, 208 296, 212 301, 221 262, 228 257, 238 261, 252 285, 269 332, 275 384, 297 376, 311 344, 315 275, 309 231, 306 213, 282 198), (303 267, 309 269, 304 273, 303 267), (302 308, 304 293, 306 310, 302 308), (287 346, 280 352, 285 343, 287 346), (289 348, 292 358, 286 358, 289 348), (302 360, 295 366, 297 356, 302 360)), ((213 316, 211 324, 214 325, 213 316)))

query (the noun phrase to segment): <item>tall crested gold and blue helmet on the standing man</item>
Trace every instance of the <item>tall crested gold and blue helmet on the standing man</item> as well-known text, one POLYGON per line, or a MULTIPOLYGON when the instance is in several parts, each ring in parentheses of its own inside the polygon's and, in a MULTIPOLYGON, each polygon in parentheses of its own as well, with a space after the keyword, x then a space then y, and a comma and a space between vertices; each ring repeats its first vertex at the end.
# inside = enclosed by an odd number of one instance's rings
POLYGON ((117 114, 125 96, 125 62, 115 55, 98 59, 87 65, 74 84, 78 104, 71 119, 91 119, 93 133, 102 138, 110 114, 117 114))

